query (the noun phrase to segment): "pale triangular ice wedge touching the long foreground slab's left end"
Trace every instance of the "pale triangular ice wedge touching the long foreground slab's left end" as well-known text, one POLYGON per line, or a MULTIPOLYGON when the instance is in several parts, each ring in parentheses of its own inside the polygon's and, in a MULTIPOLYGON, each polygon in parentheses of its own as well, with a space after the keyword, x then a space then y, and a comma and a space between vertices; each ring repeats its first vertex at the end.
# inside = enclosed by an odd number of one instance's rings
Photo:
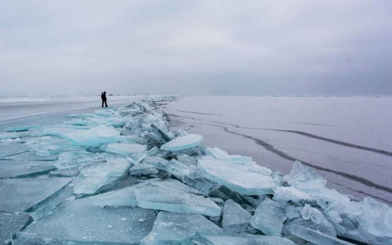
POLYGON ((137 206, 135 193, 132 187, 106 192, 97 196, 88 197, 95 206, 137 206))

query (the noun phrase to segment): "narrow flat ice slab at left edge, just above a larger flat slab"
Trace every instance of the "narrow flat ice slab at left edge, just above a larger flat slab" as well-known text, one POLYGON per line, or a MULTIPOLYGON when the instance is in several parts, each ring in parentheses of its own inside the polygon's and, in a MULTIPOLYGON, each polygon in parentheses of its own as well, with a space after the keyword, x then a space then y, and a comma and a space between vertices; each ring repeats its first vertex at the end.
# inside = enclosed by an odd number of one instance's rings
POLYGON ((0 161, 0 178, 33 177, 55 170, 52 161, 0 161))

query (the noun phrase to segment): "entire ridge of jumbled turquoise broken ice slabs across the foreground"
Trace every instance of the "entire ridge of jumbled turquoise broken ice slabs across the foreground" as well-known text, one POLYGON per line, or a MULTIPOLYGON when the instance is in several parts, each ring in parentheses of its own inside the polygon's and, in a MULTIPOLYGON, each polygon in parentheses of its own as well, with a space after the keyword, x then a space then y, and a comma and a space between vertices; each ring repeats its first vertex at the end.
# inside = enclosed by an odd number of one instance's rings
POLYGON ((386 204, 328 189, 298 161, 283 176, 172 131, 159 110, 170 99, 0 134, 0 211, 9 213, 0 235, 12 244, 392 244, 386 204))

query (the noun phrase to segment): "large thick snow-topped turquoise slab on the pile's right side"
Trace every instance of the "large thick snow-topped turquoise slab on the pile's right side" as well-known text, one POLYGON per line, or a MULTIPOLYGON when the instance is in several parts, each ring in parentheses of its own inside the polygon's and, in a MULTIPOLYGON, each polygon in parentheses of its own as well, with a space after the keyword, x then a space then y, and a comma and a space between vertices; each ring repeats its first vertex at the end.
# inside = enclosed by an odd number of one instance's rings
POLYGON ((205 178, 225 185, 240 194, 264 195, 273 193, 273 179, 269 175, 261 173, 262 170, 257 165, 252 168, 249 166, 244 168, 242 164, 208 159, 200 159, 198 164, 205 178))

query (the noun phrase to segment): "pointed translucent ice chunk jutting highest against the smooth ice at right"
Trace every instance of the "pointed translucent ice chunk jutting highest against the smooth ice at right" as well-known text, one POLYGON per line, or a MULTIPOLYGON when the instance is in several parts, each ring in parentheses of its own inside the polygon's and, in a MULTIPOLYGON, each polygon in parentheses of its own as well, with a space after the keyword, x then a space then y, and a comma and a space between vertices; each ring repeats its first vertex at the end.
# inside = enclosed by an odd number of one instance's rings
POLYGON ((299 161, 294 162, 293 169, 289 175, 285 176, 285 180, 299 189, 319 189, 327 183, 323 177, 303 166, 299 161))

